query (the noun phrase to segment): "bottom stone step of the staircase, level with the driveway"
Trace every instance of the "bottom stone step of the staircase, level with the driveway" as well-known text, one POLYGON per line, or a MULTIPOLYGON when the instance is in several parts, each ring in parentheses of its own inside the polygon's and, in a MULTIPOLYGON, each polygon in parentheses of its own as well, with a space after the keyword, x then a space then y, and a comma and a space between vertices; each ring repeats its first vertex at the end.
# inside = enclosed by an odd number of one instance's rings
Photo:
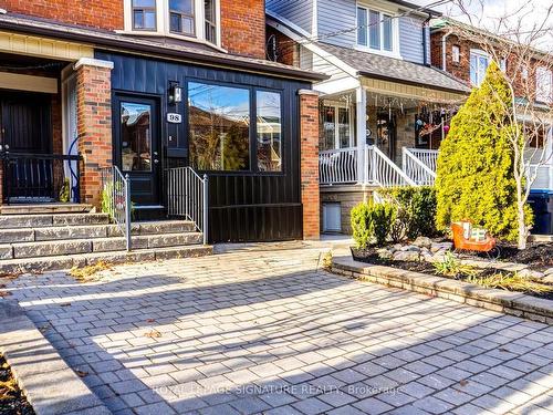
POLYGON ((213 247, 191 245, 169 248, 138 249, 127 252, 125 250, 113 252, 94 252, 70 256, 44 258, 10 259, 0 261, 0 277, 23 272, 42 272, 64 270, 72 267, 85 267, 98 261, 107 263, 145 262, 173 258, 202 257, 211 255, 213 247))

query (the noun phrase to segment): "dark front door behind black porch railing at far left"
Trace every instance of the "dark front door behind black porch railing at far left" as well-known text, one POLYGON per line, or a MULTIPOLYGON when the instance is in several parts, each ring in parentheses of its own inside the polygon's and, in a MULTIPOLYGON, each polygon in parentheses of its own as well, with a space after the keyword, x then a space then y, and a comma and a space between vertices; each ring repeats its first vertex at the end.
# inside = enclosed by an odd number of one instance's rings
POLYGON ((53 165, 51 96, 0 92, 0 159, 6 201, 50 201, 53 165))

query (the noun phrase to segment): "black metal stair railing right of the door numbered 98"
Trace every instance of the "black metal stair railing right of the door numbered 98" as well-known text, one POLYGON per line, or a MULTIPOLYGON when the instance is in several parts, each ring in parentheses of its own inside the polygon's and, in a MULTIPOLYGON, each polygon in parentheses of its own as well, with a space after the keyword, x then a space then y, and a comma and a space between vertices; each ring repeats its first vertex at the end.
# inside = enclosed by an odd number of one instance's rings
POLYGON ((167 214, 194 221, 208 242, 208 176, 191 167, 167 169, 167 214))

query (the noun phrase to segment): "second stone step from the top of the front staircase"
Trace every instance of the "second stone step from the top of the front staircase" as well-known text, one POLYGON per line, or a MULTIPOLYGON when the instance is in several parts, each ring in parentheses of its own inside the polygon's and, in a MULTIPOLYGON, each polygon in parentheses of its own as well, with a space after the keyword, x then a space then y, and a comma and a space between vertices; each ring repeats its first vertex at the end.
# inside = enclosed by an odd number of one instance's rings
MULTIPOLYGON (((163 220, 133 222, 132 235, 190 232, 194 222, 163 220)), ((39 228, 0 229, 0 243, 34 242, 62 239, 95 239, 123 236, 117 225, 49 226, 39 228)))

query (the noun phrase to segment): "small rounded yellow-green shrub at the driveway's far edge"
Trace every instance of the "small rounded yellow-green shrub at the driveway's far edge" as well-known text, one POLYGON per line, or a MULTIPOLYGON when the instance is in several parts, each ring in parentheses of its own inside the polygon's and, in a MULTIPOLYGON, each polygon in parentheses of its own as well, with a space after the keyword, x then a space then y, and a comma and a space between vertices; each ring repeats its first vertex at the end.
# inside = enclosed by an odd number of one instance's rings
POLYGON ((358 248, 373 241, 384 246, 396 221, 397 209, 393 204, 359 204, 352 209, 353 239, 358 248))

